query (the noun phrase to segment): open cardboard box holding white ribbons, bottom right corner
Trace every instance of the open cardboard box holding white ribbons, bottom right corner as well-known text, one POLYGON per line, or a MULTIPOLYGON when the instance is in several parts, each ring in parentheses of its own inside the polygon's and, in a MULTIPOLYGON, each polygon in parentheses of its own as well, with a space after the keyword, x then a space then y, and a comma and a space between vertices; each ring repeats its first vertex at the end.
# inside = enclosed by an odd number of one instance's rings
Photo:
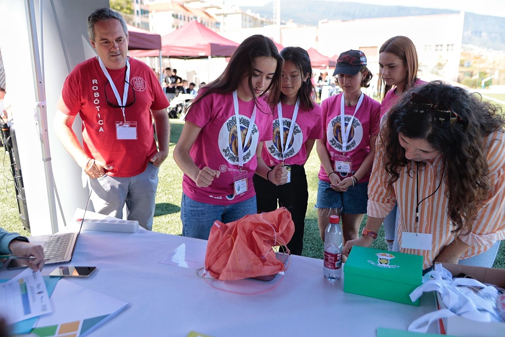
MULTIPOLYGON (((452 277, 464 273, 474 276, 483 283, 491 283, 505 288, 505 269, 436 263, 435 270, 439 265, 442 265, 445 269, 450 271, 452 277)), ((438 293, 437 308, 446 309, 438 293)), ((451 316, 440 319, 439 332, 461 337, 503 337, 505 336, 505 323, 479 322, 462 316, 451 316)))

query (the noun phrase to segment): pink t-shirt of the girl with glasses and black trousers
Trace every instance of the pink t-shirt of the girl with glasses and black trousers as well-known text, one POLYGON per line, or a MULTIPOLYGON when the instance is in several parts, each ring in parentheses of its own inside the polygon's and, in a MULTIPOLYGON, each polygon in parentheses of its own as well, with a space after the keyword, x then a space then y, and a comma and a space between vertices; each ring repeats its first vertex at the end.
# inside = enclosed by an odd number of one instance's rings
MULTIPOLYGON (((283 119, 283 141, 287 141, 289 128, 291 127, 294 112, 294 105, 282 103, 283 119)), ((269 166, 275 166, 282 161, 281 140, 279 129, 279 114, 277 106, 274 109, 274 123, 272 127, 271 138, 265 141, 261 157, 269 166)), ((298 115, 293 128, 291 141, 285 145, 284 164, 286 165, 304 165, 307 161, 307 150, 305 142, 308 139, 323 138, 323 121, 321 117, 321 107, 314 102, 314 108, 309 111, 298 109, 298 115)))

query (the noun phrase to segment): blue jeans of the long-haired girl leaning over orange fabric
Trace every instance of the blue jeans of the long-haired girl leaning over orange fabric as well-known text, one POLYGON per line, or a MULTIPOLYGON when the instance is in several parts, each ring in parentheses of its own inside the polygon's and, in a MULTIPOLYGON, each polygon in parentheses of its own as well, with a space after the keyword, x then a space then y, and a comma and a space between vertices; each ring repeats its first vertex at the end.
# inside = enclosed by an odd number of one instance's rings
POLYGON ((224 223, 256 214, 256 196, 232 205, 212 205, 189 199, 184 193, 181 200, 182 235, 209 239, 214 221, 224 223))

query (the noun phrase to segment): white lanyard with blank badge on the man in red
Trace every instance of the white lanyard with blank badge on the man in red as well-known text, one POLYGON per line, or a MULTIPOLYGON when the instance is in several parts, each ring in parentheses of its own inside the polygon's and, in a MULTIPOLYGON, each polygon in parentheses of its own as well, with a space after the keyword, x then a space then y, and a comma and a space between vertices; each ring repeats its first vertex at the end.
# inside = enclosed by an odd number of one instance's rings
POLYGON ((121 101, 121 97, 119 96, 118 89, 116 88, 116 84, 111 78, 109 71, 104 65, 102 59, 98 57, 98 63, 100 64, 100 68, 104 72, 105 77, 109 81, 111 85, 112 91, 114 92, 114 96, 118 101, 118 105, 120 106, 121 111, 123 112, 123 120, 116 122, 116 139, 118 140, 126 140, 126 139, 137 139, 137 122, 136 121, 126 121, 125 115, 125 106, 126 101, 128 100, 128 87, 130 86, 130 62, 128 58, 126 58, 126 74, 125 74, 125 86, 123 91, 123 101, 121 101))

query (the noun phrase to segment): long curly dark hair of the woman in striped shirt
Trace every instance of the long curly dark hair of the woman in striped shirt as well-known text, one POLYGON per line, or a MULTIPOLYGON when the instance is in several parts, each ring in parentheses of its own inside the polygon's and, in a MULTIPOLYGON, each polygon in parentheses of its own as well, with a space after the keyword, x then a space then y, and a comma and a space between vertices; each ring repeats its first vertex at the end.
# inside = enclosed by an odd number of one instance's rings
MULTIPOLYGON (((442 156, 443 178, 447 185, 447 215, 460 231, 476 219, 478 209, 491 189, 485 137, 494 131, 504 131, 505 119, 501 107, 482 100, 480 95, 442 81, 433 81, 405 92, 391 108, 380 132, 380 145, 385 150, 383 165, 388 173, 388 188, 399 178, 402 168, 409 175, 415 163, 405 157, 398 134, 424 139, 442 156), (433 122, 433 112, 415 113, 409 110, 412 93, 429 98, 461 116, 462 120, 450 127, 433 122)), ((418 163, 424 165, 425 163, 418 163)), ((411 175, 412 176, 412 175, 411 175)))

